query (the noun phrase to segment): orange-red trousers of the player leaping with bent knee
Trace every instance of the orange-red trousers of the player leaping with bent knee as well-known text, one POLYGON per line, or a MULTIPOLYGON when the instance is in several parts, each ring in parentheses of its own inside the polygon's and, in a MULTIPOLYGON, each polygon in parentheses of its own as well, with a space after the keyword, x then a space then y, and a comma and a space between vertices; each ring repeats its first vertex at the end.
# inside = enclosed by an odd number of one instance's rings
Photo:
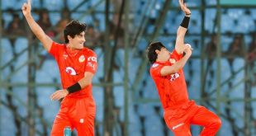
POLYGON ((191 136, 190 124, 204 127, 200 136, 214 136, 221 125, 216 114, 203 106, 197 106, 194 101, 175 110, 164 110, 164 120, 175 136, 191 136))

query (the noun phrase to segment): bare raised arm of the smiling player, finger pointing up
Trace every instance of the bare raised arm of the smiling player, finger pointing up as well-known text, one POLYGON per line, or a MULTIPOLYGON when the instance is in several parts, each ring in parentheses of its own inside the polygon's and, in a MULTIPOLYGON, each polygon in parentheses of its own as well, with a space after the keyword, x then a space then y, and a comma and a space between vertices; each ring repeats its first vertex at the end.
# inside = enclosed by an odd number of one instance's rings
POLYGON ((53 40, 51 40, 50 37, 45 34, 45 31, 42 30, 42 28, 34 20, 33 16, 31 16, 31 0, 27 0, 21 9, 33 33, 40 40, 40 42, 42 42, 45 49, 49 51, 53 40))

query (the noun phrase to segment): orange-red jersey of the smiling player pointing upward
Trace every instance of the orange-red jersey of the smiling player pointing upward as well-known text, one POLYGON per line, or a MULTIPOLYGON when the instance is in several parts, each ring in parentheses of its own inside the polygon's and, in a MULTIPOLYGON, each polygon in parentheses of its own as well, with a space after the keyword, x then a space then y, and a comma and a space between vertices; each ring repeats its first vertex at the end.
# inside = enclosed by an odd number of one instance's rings
MULTIPOLYGON (((97 55, 88 48, 79 50, 77 54, 69 54, 67 45, 53 42, 49 53, 55 57, 59 66, 62 87, 66 89, 84 77, 85 72, 96 73, 97 55)), ((92 84, 68 95, 74 97, 92 96, 92 84)))

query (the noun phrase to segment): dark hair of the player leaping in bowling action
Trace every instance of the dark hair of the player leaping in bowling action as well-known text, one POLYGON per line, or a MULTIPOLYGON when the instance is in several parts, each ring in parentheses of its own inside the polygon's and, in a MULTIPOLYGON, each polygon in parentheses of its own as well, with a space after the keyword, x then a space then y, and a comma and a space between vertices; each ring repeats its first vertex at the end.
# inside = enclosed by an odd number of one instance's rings
POLYGON ((147 53, 148 53, 148 59, 150 63, 154 63, 156 59, 158 58, 158 54, 156 54, 155 50, 161 50, 161 48, 166 48, 161 42, 151 42, 148 45, 147 53))

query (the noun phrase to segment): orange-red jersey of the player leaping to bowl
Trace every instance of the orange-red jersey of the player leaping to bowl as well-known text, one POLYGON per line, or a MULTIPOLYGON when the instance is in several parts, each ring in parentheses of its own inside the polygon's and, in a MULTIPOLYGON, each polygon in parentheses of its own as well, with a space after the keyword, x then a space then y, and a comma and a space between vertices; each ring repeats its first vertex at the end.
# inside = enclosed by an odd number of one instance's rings
POLYGON ((171 66, 182 58, 183 54, 178 54, 177 51, 174 50, 173 53, 170 54, 169 61, 155 62, 150 68, 151 77, 154 79, 154 83, 159 91, 160 101, 164 109, 175 109, 189 101, 183 69, 179 70, 178 73, 173 73, 168 76, 161 76, 160 73, 164 66, 171 66))

